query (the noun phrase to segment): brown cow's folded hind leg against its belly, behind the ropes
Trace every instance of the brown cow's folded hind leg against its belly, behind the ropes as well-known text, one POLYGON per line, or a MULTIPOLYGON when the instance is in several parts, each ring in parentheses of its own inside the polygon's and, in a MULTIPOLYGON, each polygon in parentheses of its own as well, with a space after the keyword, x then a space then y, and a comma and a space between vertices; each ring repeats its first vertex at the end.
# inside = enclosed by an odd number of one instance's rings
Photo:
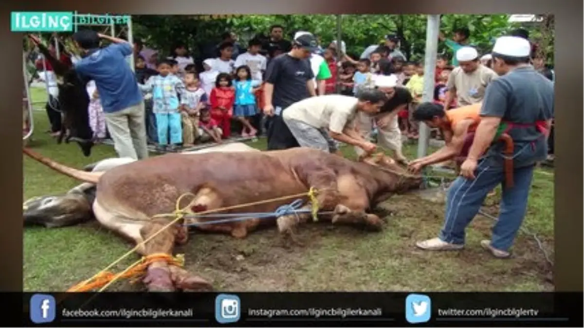
MULTIPOLYGON (((216 210, 224 206, 224 197, 212 186, 203 186, 197 191, 191 208, 194 212, 216 210)), ((230 233, 235 238, 245 238, 248 234, 248 222, 235 221, 221 224, 206 224, 206 221, 214 221, 217 218, 189 218, 187 224, 194 225, 202 231, 230 233)), ((248 220, 253 221, 253 220, 248 220)))

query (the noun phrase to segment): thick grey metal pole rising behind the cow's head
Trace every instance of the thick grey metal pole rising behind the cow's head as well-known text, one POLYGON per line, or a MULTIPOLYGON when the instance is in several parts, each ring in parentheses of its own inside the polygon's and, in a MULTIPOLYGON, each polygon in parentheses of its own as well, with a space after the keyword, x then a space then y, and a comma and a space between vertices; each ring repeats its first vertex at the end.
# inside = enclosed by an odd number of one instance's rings
MULTIPOLYGON (((440 15, 428 15, 426 25, 426 58, 424 61, 424 91, 422 102, 432 102, 434 98, 434 74, 436 72, 436 56, 438 52, 438 33, 440 30, 440 15)), ((430 141, 430 128, 420 122, 420 137, 418 139, 418 158, 426 156, 430 141)))

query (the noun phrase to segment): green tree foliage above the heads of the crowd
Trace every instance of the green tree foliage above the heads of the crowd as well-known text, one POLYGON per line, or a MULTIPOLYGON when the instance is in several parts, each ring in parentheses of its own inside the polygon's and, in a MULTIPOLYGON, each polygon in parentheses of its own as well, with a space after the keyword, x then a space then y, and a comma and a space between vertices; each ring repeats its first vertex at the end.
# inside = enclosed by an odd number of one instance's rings
MULTIPOLYGON (((385 34, 395 33, 401 38, 402 51, 409 58, 420 60, 425 51, 426 18, 426 15, 342 15, 341 38, 347 45, 347 53, 359 55, 365 47, 383 41, 385 34)), ((443 15, 440 30, 450 37, 454 29, 468 27, 471 43, 481 53, 488 53, 496 37, 517 27, 508 18, 509 15, 443 15)), ((182 41, 189 44, 195 56, 209 44, 218 43, 221 33, 235 32, 245 44, 256 34, 267 35, 274 24, 284 26, 287 39, 298 30, 314 33, 322 40, 322 46, 337 38, 336 15, 136 15, 133 22, 135 38, 144 39, 165 53, 173 43, 182 41)), ((541 32, 537 26, 529 29, 534 34, 541 32)), ((552 34, 545 36, 548 40, 545 51, 553 45, 552 34)), ((439 44, 439 53, 452 55, 443 43, 439 44)))

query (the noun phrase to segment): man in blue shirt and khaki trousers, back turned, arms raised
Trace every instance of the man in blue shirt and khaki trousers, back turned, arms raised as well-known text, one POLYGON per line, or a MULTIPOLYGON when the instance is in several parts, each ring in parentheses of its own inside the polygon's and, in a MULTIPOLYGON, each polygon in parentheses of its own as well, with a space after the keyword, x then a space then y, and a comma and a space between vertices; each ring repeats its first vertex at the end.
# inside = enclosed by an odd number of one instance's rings
POLYGON ((75 64, 75 71, 82 81, 95 81, 107 130, 118 156, 147 158, 144 100, 126 61, 126 57, 133 54, 132 44, 92 30, 81 30, 73 39, 84 52, 84 58, 75 64), (112 44, 100 48, 100 39, 112 44))

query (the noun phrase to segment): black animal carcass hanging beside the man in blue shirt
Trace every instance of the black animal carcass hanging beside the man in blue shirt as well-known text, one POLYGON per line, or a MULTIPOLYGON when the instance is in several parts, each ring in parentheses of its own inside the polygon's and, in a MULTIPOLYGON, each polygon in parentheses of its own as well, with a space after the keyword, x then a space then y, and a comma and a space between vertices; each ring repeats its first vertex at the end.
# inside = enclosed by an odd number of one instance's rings
POLYGON ((63 114, 63 130, 57 141, 61 143, 65 130, 68 130, 65 142, 75 141, 85 156, 91 155, 93 131, 89 125, 89 95, 85 83, 79 79, 75 69, 55 58, 53 52, 38 37, 29 35, 29 38, 39 47, 39 51, 51 63, 57 75, 58 103, 63 114))

